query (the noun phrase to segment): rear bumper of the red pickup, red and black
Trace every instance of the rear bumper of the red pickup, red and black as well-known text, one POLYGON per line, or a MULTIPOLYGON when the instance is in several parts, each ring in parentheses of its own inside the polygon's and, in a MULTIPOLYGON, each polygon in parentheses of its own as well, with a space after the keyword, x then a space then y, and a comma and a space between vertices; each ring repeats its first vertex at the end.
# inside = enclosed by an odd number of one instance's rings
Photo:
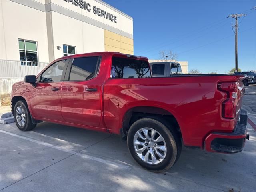
POLYGON ((241 110, 234 132, 209 134, 204 140, 204 150, 218 153, 237 153, 243 150, 247 135, 247 112, 241 110))

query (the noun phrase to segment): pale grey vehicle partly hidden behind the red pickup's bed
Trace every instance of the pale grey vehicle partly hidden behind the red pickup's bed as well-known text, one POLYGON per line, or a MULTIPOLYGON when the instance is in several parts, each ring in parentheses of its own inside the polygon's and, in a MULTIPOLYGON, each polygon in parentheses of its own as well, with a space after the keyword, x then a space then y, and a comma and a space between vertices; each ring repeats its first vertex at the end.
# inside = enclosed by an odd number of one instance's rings
POLYGON ((178 62, 152 62, 150 63, 152 77, 170 77, 181 75, 181 66, 178 62))

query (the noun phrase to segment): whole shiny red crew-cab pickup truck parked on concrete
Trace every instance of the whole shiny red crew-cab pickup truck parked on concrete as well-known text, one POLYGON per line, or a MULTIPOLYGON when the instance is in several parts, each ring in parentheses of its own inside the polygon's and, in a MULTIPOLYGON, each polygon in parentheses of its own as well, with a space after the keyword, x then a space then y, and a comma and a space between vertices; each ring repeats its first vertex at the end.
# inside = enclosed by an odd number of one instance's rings
POLYGON ((183 145, 208 152, 242 151, 247 113, 244 76, 152 78, 148 58, 96 52, 54 60, 12 86, 17 127, 49 121, 120 134, 132 157, 155 172, 169 169, 183 145))

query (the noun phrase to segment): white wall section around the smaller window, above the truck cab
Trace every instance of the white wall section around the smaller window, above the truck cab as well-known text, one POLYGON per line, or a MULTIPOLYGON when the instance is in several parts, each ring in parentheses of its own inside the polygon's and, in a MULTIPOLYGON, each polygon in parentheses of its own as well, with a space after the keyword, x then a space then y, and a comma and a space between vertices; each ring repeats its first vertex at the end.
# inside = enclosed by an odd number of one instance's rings
POLYGON ((104 51, 102 28, 56 12, 52 12, 52 27, 55 58, 63 56, 63 44, 75 46, 76 54, 104 51))

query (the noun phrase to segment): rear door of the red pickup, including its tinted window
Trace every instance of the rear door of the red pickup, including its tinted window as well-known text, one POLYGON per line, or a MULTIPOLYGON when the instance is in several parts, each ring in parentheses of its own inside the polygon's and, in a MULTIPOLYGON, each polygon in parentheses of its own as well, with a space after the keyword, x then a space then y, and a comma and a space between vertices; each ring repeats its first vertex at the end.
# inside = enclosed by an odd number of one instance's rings
POLYGON ((70 61, 61 85, 61 113, 74 124, 98 127, 101 118, 102 82, 98 76, 101 56, 92 55, 70 61))

